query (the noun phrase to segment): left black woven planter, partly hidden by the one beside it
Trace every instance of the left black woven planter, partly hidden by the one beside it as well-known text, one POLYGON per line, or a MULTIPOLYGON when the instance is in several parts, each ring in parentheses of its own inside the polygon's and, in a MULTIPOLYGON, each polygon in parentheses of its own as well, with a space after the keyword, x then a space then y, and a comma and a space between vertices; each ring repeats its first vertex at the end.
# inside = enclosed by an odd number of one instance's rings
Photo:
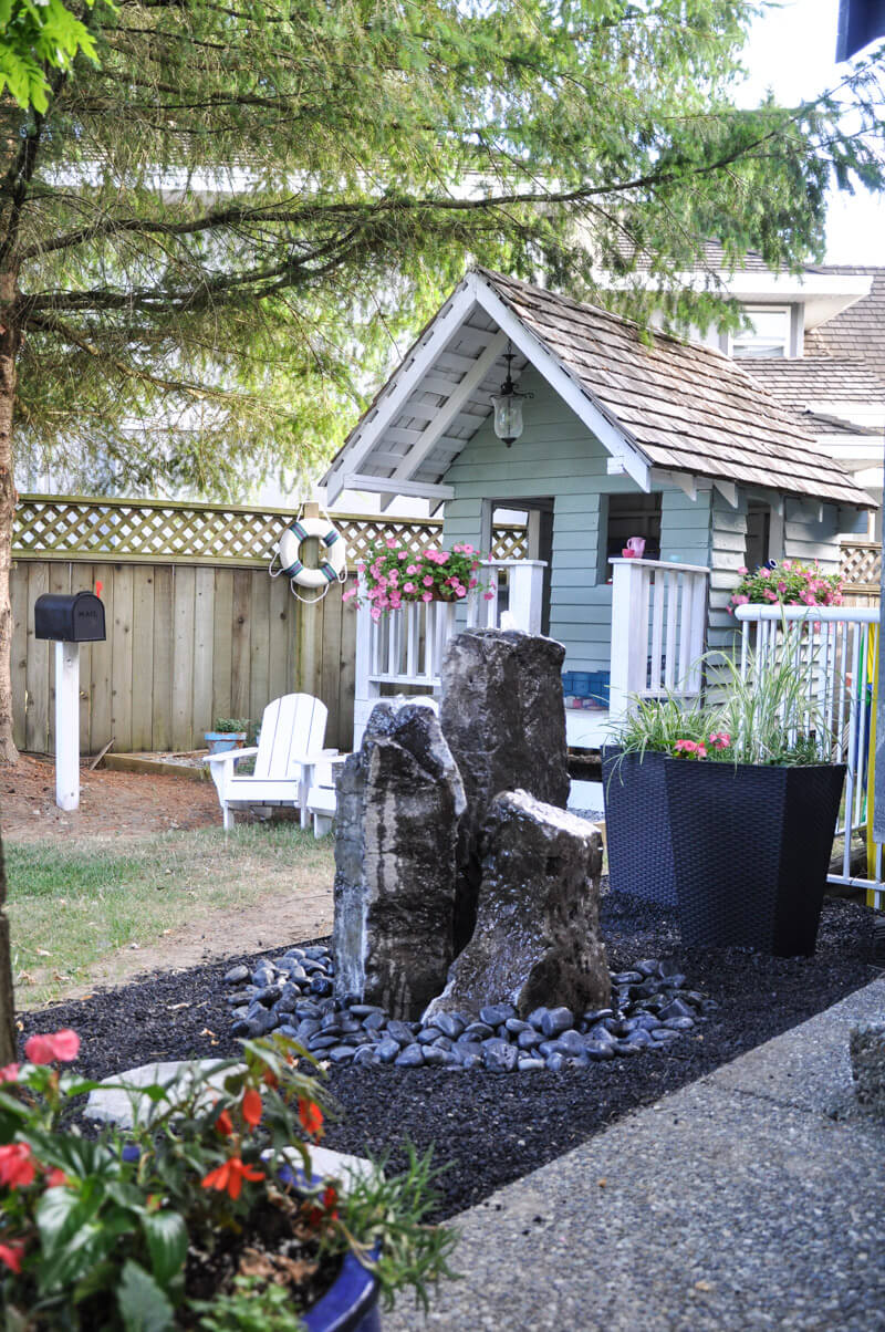
POLYGON ((609 888, 676 907, 665 755, 602 749, 602 799, 609 888))

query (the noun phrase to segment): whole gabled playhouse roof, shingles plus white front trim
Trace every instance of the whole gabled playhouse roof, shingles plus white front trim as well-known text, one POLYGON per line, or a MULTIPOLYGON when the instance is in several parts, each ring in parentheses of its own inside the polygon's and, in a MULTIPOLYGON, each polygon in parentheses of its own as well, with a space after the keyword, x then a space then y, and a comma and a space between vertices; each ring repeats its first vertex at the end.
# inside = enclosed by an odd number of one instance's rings
POLYGON ((351 433, 329 500, 345 486, 449 498, 444 476, 490 412, 508 338, 644 489, 662 469, 874 506, 740 362, 486 269, 468 273, 351 433))

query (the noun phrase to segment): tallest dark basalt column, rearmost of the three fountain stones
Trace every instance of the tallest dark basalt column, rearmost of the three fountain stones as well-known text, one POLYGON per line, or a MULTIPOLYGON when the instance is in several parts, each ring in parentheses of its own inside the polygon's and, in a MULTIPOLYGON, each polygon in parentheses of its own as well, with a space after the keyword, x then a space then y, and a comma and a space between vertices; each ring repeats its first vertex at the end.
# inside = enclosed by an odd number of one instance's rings
POLYGON ((456 951, 473 932, 480 838, 496 795, 518 789, 565 809, 564 659, 552 638, 500 629, 468 629, 445 650, 440 723, 468 802, 458 832, 456 951))

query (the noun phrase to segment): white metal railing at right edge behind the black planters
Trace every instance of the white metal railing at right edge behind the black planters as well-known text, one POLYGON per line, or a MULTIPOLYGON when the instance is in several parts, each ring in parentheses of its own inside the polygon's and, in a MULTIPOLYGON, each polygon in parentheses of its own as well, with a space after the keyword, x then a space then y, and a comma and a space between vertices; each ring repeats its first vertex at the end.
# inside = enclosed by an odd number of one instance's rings
POLYGON ((738 606, 734 614, 742 625, 742 674, 750 649, 769 658, 786 653, 808 679, 808 715, 817 725, 821 759, 848 767, 837 829, 845 838, 842 872, 830 874, 829 882, 866 888, 874 906, 885 906, 880 843, 866 871, 873 876, 850 872, 852 836, 866 829, 872 815, 868 773, 878 606, 738 606))

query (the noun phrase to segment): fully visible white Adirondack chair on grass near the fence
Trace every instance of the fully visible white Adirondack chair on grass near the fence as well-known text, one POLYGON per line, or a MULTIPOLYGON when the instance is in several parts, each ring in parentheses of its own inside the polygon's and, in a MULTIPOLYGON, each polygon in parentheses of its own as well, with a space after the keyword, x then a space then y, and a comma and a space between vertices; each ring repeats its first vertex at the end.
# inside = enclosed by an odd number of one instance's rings
POLYGON ((233 823, 232 810, 244 805, 292 805, 307 827, 312 766, 337 757, 337 750, 323 749, 327 711, 311 694, 285 694, 264 709, 257 749, 208 755, 225 830, 233 823), (239 777, 237 763, 251 755, 255 773, 239 777))

